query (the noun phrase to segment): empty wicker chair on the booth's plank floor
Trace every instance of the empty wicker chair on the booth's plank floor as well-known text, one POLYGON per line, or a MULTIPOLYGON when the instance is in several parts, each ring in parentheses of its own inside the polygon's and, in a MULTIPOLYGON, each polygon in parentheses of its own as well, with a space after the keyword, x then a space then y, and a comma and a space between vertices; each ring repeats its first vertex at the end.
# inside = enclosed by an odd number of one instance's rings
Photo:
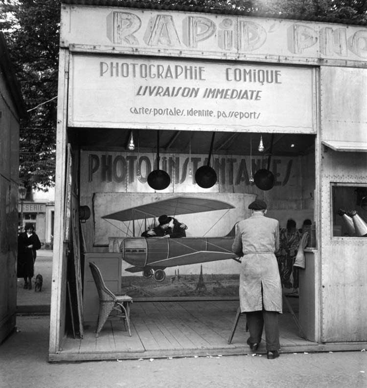
POLYGON ((106 287, 99 268, 93 262, 89 263, 89 267, 91 268, 92 276, 94 279, 95 286, 97 287, 99 297, 99 312, 95 336, 98 337, 99 332, 102 330, 102 327, 106 323, 107 318, 109 318, 110 314, 113 311, 117 311, 117 314, 113 317, 119 317, 123 319, 125 330, 127 325, 129 335, 131 337, 130 303, 133 302, 133 299, 128 295, 115 295, 106 287))

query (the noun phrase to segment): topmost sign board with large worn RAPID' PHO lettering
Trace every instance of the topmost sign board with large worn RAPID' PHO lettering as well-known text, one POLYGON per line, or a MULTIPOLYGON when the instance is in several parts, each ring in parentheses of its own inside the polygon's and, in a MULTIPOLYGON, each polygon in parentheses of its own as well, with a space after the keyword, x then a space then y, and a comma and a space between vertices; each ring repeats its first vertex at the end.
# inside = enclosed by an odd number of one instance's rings
POLYGON ((60 45, 76 51, 128 55, 365 67, 367 28, 63 4, 60 45))

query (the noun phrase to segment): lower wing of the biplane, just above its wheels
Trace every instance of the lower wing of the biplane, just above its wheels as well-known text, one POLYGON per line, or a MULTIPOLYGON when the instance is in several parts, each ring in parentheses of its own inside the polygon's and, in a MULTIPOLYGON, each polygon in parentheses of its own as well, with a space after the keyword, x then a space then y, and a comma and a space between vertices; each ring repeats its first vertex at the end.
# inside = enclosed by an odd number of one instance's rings
POLYGON ((182 256, 175 256, 168 259, 161 259, 154 262, 150 262, 148 266, 175 267, 176 265, 205 263, 208 261, 234 259, 237 257, 238 255, 234 254, 233 252, 197 251, 182 256))

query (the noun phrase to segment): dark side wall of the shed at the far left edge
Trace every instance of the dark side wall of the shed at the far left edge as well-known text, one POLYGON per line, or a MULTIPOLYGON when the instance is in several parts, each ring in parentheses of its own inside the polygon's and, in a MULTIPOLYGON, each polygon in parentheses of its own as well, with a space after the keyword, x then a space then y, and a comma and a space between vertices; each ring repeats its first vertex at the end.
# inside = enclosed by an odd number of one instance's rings
POLYGON ((16 326, 19 126, 25 107, 0 32, 0 343, 16 326))

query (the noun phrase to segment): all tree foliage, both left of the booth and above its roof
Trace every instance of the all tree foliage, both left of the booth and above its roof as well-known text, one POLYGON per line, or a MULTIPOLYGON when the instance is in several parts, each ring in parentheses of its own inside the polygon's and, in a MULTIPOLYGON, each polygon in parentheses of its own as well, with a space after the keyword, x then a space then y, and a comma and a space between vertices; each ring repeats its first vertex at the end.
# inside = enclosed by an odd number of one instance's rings
MULTIPOLYGON (((21 123, 20 178, 41 188, 53 185, 59 53, 60 0, 0 0, 3 30, 29 116, 21 123), (49 101, 51 100, 51 101, 49 101), (48 102, 47 102, 48 101, 48 102), (45 103, 46 102, 46 103, 45 103), (40 105, 42 104, 42 105, 40 105), (38 107, 38 108, 35 108, 38 107), (35 109, 34 109, 35 108, 35 109)), ((365 0, 145 0, 132 4, 180 5, 248 15, 367 22, 365 0)))

